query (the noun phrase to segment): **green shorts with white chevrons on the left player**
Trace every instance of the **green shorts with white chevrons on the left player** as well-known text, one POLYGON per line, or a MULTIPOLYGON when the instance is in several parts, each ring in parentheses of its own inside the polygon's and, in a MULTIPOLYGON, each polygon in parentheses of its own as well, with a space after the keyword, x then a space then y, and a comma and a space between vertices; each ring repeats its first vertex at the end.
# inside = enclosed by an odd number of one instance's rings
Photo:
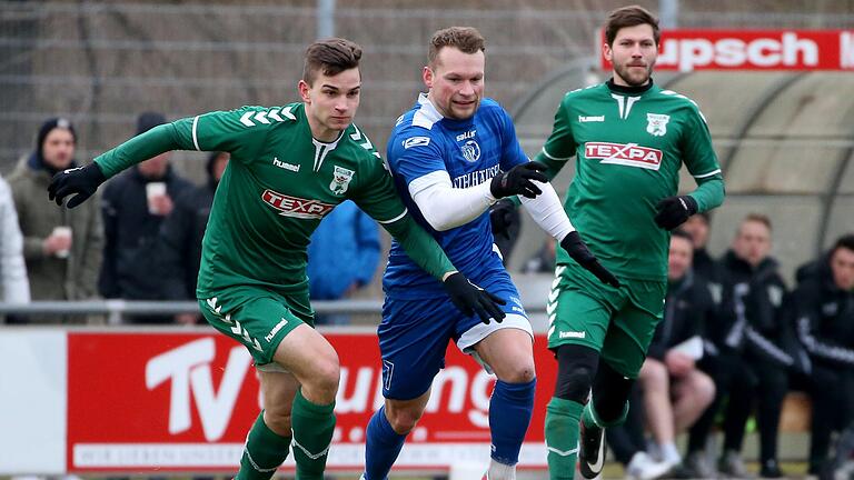
POLYGON ((256 367, 272 362, 281 339, 301 323, 315 326, 308 290, 282 296, 260 287, 236 287, 199 299, 205 319, 242 343, 256 367))

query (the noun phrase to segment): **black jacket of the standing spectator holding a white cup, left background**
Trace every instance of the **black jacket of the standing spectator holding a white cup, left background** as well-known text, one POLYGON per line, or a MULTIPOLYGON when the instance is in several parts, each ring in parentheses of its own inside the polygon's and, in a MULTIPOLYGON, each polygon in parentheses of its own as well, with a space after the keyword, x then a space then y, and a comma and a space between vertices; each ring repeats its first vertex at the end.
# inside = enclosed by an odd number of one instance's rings
POLYGON ((146 183, 162 181, 175 201, 192 183, 171 167, 158 180, 148 180, 132 168, 107 182, 101 202, 106 244, 98 282, 105 298, 162 300, 163 279, 158 254, 162 216, 148 212, 146 183))

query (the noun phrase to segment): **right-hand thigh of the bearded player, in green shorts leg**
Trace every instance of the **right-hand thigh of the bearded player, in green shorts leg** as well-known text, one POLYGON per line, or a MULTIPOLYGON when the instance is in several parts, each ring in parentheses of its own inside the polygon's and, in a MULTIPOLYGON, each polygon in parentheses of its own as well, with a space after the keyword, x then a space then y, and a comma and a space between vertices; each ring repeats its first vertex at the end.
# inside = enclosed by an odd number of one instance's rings
POLYGON ((602 347, 602 360, 618 373, 636 379, 659 321, 661 314, 627 303, 612 320, 602 347))

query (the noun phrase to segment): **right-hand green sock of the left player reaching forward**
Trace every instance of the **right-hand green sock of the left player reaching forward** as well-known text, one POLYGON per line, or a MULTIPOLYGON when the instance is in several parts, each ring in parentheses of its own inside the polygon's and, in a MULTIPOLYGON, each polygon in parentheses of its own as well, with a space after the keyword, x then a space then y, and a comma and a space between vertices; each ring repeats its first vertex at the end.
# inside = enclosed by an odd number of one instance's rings
POLYGON ((326 458, 335 431, 335 402, 319 406, 311 403, 298 390, 294 398, 291 424, 294 428, 294 460, 297 462, 296 480, 324 480, 326 458))

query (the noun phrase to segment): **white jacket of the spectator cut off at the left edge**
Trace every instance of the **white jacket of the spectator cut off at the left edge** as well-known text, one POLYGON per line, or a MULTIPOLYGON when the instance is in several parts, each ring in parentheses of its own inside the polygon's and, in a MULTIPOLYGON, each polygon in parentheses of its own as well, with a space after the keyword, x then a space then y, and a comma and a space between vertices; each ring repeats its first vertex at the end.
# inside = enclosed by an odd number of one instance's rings
MULTIPOLYGON (((30 280, 23 261, 23 234, 9 183, 0 177, 0 299, 7 303, 29 303, 30 280)), ((9 319, 10 323, 17 318, 9 319)))

